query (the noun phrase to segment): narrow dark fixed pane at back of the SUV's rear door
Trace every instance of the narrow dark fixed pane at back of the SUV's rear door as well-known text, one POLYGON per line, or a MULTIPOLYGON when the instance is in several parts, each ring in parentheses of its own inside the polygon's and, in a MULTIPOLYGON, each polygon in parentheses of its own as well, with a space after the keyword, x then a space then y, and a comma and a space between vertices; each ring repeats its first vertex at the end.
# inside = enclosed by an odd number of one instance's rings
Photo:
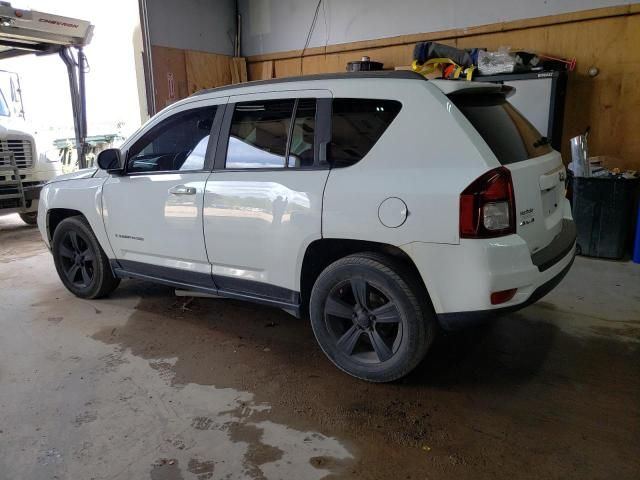
POLYGON ((293 129, 291 130, 291 145, 287 162, 290 168, 313 166, 315 132, 316 100, 301 98, 298 100, 293 129))

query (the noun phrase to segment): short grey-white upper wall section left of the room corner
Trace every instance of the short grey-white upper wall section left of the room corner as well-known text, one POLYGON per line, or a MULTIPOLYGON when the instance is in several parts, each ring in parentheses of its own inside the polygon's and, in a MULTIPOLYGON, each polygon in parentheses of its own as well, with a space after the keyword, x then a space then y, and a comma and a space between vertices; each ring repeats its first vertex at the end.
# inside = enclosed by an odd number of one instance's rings
POLYGON ((235 0, 146 0, 152 45, 233 55, 235 0))

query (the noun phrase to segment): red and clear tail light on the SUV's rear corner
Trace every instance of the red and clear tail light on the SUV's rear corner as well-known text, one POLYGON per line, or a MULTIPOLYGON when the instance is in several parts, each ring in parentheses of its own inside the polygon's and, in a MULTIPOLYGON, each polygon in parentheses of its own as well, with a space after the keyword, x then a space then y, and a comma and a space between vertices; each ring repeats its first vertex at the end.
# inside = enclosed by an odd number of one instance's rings
POLYGON ((516 233, 511 172, 494 168, 460 194, 460 237, 492 238, 516 233))

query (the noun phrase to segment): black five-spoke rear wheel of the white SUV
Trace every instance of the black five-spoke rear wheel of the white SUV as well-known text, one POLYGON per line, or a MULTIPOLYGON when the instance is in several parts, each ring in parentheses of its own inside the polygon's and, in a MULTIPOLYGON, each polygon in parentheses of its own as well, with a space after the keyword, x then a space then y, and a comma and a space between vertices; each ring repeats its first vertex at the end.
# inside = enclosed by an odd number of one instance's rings
POLYGON ((329 359, 370 382, 405 376, 424 358, 435 335, 426 293, 399 264, 376 253, 329 265, 311 292, 313 332, 329 359))

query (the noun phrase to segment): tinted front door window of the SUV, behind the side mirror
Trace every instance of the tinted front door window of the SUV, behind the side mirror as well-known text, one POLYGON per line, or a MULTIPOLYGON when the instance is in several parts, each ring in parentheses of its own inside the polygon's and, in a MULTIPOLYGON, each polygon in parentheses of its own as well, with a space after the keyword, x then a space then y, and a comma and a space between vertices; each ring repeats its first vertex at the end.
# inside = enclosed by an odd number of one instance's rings
POLYGON ((129 150, 128 172, 202 170, 216 107, 177 113, 129 150))

